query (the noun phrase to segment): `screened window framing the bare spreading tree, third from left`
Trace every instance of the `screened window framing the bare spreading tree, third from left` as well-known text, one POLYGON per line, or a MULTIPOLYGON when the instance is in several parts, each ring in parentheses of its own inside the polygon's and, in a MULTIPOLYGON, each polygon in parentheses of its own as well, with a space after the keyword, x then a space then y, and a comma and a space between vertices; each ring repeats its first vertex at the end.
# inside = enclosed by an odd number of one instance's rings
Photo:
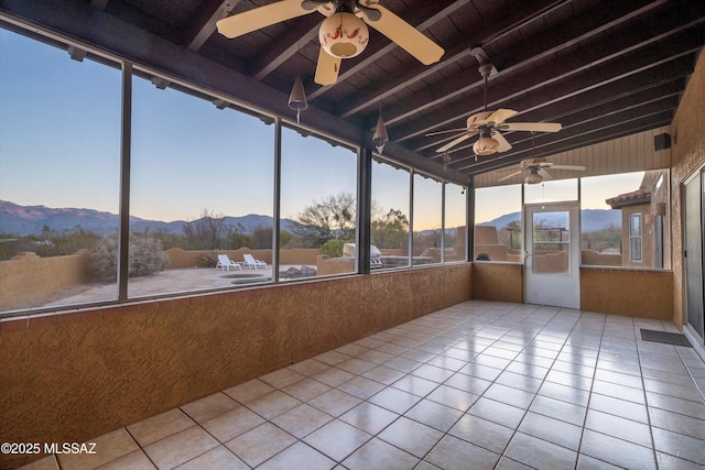
POLYGON ((282 129, 280 280, 354 273, 357 153, 282 129))

